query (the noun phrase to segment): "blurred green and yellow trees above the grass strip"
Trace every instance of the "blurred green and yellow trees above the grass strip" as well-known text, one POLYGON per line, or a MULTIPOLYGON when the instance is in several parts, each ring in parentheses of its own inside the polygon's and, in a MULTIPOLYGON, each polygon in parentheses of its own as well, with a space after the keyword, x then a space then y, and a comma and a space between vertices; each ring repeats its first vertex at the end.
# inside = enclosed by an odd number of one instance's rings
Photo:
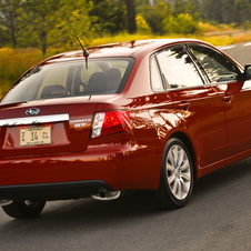
POLYGON ((121 32, 194 34, 200 23, 249 29, 251 0, 0 0, 0 48, 84 46, 121 32))

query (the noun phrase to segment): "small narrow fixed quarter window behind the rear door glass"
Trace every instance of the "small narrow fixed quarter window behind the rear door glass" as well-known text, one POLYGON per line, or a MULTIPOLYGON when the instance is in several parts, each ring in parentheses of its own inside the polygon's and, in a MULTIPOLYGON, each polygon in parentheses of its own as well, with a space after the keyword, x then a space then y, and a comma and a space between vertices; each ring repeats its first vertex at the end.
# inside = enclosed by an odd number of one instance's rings
POLYGON ((163 83, 160 76, 160 70, 155 61, 155 57, 150 58, 150 74, 151 74, 151 87, 153 91, 163 91, 163 83))

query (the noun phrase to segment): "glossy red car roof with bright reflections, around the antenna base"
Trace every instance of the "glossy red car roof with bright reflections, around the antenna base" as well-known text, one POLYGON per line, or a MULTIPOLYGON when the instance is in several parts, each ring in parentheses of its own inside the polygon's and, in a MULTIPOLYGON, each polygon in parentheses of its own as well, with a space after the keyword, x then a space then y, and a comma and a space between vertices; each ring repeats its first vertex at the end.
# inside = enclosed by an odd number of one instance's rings
MULTIPOLYGON (((109 43, 98 47, 88 48, 89 58, 110 58, 110 57, 137 57, 137 54, 151 53, 162 47, 185 43, 185 42, 199 42, 204 43, 197 39, 150 39, 150 40, 133 40, 127 42, 109 43)), ((53 62, 68 61, 74 59, 82 59, 83 51, 69 51, 42 61, 41 64, 49 64, 53 62)))

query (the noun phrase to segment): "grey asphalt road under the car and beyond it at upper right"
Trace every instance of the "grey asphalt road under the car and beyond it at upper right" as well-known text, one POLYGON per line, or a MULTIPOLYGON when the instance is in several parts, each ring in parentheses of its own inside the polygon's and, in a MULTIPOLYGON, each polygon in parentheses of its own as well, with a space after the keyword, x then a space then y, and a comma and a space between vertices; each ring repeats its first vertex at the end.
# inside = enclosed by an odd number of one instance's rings
MULTIPOLYGON (((251 44, 222 48, 251 62, 251 44), (249 61, 250 59, 250 61, 249 61)), ((0 250, 251 250, 251 158, 201 178, 188 205, 162 211, 151 194, 48 202, 39 218, 0 210, 0 250)))

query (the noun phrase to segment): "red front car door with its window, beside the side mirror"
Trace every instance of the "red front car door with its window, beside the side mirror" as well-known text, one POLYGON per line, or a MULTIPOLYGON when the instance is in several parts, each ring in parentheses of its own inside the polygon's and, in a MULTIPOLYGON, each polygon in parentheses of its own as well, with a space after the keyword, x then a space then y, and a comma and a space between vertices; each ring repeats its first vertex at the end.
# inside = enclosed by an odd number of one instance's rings
POLYGON ((227 118, 227 157, 250 151, 251 83, 243 81, 239 67, 205 46, 189 46, 219 93, 227 118))

